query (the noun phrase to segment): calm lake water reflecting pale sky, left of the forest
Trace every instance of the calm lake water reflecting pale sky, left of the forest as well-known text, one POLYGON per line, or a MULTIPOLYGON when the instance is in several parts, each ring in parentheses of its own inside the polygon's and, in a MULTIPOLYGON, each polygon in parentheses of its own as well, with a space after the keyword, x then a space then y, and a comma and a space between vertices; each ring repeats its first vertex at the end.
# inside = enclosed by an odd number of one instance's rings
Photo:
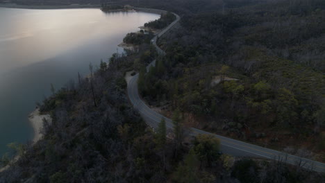
MULTIPOLYGON (((159 15, 98 9, 22 10, 0 8, 0 157, 11 142, 33 139, 28 114, 90 62, 117 52, 126 33, 159 15)), ((119 49, 122 52, 121 49, 119 49)))

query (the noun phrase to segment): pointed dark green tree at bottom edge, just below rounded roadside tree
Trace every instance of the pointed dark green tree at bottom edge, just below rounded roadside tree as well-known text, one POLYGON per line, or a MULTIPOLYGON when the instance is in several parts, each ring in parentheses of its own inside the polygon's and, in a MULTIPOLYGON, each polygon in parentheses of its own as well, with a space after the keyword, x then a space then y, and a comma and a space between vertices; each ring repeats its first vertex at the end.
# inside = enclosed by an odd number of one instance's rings
POLYGON ((185 156, 184 163, 180 163, 176 168, 174 180, 180 183, 198 182, 199 160, 193 148, 185 156))

